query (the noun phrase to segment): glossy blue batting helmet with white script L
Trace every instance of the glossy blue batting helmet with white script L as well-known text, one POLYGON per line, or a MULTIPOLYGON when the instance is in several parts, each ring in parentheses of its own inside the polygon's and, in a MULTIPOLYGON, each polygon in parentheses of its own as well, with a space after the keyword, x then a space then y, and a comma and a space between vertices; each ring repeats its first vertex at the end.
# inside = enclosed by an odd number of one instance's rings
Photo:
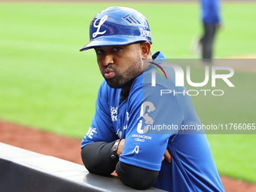
POLYGON ((90 23, 90 42, 80 51, 93 47, 131 44, 151 41, 148 21, 139 11, 132 8, 106 8, 90 23))

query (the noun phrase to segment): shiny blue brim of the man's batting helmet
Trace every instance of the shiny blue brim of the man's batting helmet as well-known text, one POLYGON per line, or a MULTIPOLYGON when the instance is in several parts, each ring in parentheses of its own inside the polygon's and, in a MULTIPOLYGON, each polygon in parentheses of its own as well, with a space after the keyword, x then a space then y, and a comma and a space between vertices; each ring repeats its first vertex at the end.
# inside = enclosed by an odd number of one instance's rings
POLYGON ((81 48, 80 51, 89 50, 91 48, 99 47, 99 46, 131 44, 137 41, 148 41, 148 40, 146 40, 145 37, 142 37, 142 36, 138 37, 138 36, 127 36, 127 35, 111 35, 111 36, 95 38, 93 41, 90 41, 89 44, 81 48))

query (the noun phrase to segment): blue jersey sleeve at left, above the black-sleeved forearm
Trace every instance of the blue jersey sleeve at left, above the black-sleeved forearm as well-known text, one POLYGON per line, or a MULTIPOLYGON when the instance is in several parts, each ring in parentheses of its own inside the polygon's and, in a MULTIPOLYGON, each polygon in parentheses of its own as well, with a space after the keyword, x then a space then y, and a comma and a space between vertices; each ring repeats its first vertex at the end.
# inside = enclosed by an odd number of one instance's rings
POLYGON ((108 89, 106 82, 103 81, 99 87, 92 123, 86 136, 82 139, 81 148, 92 142, 113 142, 117 139, 108 110, 108 89))

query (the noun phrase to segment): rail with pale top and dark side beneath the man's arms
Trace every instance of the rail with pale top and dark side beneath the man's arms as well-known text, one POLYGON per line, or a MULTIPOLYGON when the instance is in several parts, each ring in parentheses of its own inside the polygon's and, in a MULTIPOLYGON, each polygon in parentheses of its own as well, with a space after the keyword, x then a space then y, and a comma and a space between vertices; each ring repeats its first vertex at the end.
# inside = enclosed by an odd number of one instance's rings
MULTIPOLYGON (((137 190, 126 187, 115 176, 94 175, 79 164, 0 142, 0 191, 137 190)), ((163 190, 151 187, 145 191, 163 190)))

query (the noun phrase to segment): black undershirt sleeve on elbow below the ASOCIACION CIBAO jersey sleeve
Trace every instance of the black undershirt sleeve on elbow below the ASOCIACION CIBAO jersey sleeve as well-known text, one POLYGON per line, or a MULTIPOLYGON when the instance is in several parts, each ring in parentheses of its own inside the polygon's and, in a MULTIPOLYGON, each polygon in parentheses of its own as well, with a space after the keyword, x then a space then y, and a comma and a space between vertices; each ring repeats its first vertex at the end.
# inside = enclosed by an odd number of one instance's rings
POLYGON ((116 172, 123 184, 139 190, 145 190, 151 187, 157 181, 159 173, 138 166, 131 166, 120 161, 117 163, 116 172))

